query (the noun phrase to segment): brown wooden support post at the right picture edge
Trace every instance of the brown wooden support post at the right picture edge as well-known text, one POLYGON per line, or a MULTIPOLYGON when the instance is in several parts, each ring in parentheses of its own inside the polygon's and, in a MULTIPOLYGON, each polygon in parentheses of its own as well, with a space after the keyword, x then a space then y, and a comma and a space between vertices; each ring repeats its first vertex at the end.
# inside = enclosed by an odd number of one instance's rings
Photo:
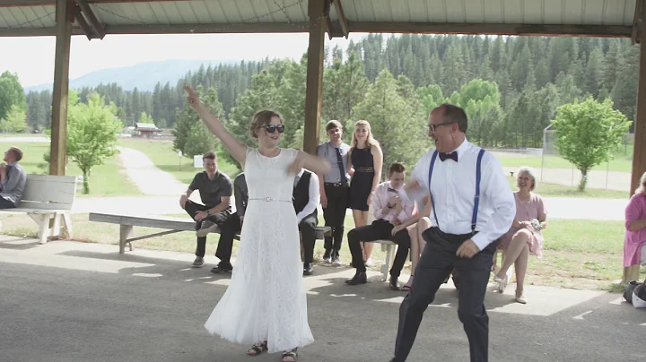
POLYGON ((639 186, 640 177, 646 172, 646 31, 643 29, 646 19, 646 6, 642 10, 642 30, 640 31, 640 67, 639 85, 637 87, 637 115, 634 124, 633 177, 630 194, 639 186))

